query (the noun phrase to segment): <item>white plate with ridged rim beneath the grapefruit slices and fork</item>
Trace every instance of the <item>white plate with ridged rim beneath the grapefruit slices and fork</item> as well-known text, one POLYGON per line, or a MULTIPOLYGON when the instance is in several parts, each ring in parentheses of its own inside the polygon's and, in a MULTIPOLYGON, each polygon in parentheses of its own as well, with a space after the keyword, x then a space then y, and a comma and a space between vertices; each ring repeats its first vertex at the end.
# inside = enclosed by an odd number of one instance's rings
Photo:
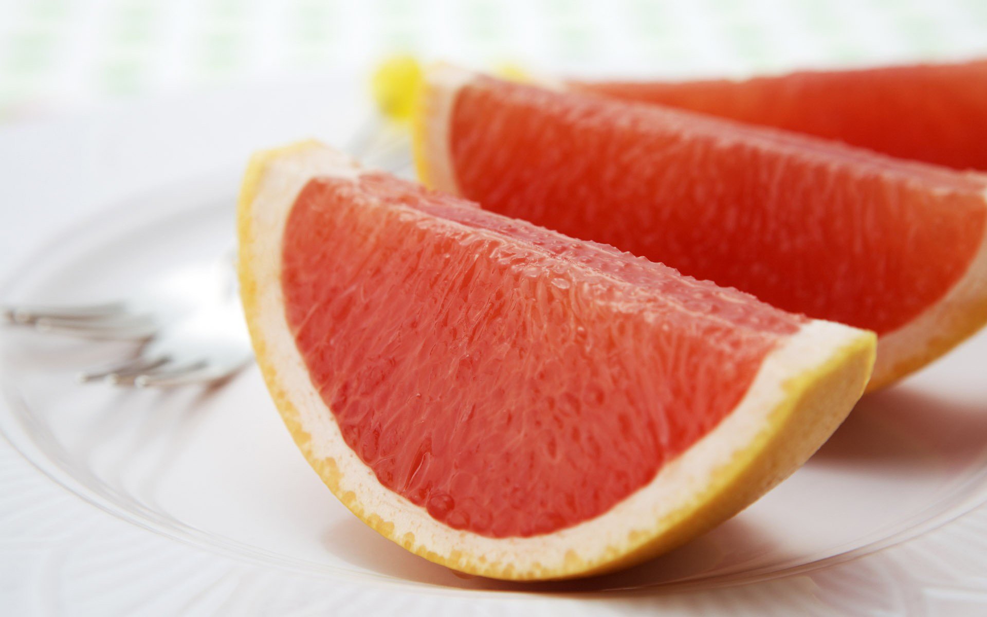
MULTIPOLYGON (((342 143, 366 109, 357 92, 353 76, 338 75, 0 127, 0 270, 17 273, 0 299, 114 297, 143 275, 212 258, 232 243, 246 154, 312 134, 342 143), (233 165, 177 180, 217 161, 233 165), (11 268, 52 221, 109 203, 11 268)), ((254 370, 212 393, 74 382, 80 367, 125 350, 0 329, 0 429, 57 483, 133 523, 52 496, 0 444, 5 608, 101 617, 136 606, 142 615, 987 614, 987 507, 873 555, 984 501, 987 334, 865 399, 804 469, 721 528, 626 573, 564 585, 459 578, 365 528, 294 449, 254 370), (533 589, 566 594, 510 592, 533 589)))

